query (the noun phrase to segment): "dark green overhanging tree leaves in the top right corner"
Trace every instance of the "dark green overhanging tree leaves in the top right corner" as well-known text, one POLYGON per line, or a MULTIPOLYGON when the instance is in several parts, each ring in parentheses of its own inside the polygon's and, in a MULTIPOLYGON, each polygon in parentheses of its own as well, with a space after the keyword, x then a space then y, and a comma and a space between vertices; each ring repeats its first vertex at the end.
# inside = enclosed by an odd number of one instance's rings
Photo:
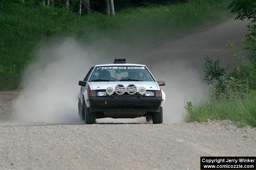
POLYGON ((231 9, 231 13, 237 14, 236 19, 256 19, 255 0, 232 0, 228 9, 231 9))

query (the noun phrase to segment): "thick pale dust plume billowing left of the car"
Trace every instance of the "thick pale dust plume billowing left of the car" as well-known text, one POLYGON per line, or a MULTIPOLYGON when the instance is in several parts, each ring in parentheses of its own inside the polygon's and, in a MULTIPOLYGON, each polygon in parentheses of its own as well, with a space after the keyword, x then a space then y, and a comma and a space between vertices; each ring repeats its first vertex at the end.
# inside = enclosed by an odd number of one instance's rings
POLYGON ((14 103, 18 121, 82 124, 78 116, 78 80, 92 65, 86 49, 72 39, 40 49, 23 76, 14 103))

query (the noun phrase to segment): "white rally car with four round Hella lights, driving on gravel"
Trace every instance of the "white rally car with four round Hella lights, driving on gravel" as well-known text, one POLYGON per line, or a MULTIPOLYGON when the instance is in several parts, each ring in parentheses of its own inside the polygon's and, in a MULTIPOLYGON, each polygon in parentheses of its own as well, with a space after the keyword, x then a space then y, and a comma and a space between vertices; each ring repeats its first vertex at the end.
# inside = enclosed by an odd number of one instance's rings
POLYGON ((127 64, 115 59, 114 64, 93 66, 86 74, 78 94, 80 118, 94 124, 97 118, 146 117, 154 124, 163 122, 165 93, 145 65, 127 64))

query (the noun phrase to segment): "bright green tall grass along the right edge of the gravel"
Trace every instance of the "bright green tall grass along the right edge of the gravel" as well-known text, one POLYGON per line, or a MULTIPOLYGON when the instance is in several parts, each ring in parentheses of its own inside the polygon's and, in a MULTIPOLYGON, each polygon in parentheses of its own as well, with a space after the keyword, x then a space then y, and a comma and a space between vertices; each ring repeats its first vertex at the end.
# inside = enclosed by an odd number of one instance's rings
POLYGON ((195 103, 186 109, 186 121, 230 119, 256 127, 256 91, 250 91, 244 97, 232 100, 222 97, 211 102, 195 103))

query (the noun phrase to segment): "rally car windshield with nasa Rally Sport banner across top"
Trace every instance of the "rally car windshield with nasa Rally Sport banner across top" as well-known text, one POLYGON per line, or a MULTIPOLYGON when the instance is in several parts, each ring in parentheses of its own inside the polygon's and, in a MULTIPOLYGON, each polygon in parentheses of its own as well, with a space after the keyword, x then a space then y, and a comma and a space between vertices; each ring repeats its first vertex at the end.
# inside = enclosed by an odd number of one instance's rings
POLYGON ((107 66, 96 67, 90 82, 106 81, 147 81, 154 82, 153 77, 143 66, 107 66))

